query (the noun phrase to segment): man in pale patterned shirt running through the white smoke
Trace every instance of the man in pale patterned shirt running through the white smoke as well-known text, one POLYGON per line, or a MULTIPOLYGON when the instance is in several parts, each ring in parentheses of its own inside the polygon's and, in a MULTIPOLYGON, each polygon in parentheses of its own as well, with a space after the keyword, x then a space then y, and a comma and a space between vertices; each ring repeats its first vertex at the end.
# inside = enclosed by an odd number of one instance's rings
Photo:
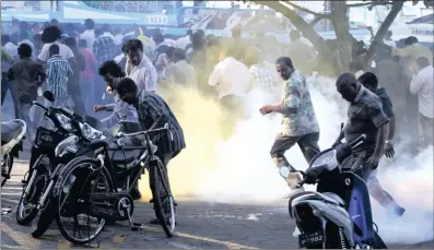
MULTIPOLYGON (((319 126, 310 100, 306 79, 294 69, 289 57, 281 57, 275 62, 275 70, 284 81, 283 99, 274 105, 263 106, 259 111, 262 115, 279 112, 283 116, 280 133, 271 147, 271 157, 275 166, 295 170, 286 160, 284 153, 296 143, 309 163, 319 153, 319 126)), ((286 178, 288 186, 294 189, 301 180, 296 174, 286 178), (296 178, 296 181, 295 181, 296 178)))

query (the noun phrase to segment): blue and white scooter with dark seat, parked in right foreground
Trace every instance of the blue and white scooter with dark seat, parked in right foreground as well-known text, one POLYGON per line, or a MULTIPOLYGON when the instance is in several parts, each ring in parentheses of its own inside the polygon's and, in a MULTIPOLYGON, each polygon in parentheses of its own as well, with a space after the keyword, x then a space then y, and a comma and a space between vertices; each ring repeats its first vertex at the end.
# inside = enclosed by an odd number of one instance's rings
MULTIPOLYGON (((315 156, 297 188, 317 183, 316 192, 294 194, 289 201, 289 213, 301 231, 298 246, 307 249, 374 248, 387 249, 374 230, 370 193, 363 176, 365 169, 341 168, 340 163, 359 147, 366 135, 351 143, 328 148, 315 156)), ((281 168, 283 177, 289 168, 281 168)))

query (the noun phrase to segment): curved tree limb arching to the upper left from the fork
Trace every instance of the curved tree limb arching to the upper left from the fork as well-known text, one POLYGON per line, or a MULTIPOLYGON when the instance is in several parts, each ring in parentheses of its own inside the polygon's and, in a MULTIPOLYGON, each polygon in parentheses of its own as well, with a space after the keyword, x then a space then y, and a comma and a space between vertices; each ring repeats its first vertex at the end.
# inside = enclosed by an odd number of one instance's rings
POLYGON ((282 13, 285 17, 288 17, 292 22, 292 24, 300 32, 303 33, 303 36, 306 37, 318 50, 320 60, 332 68, 333 72, 331 73, 333 74, 338 73, 339 71, 338 63, 335 60, 335 57, 331 53, 325 39, 320 35, 318 35, 318 33, 314 29, 314 27, 312 27, 297 13, 295 13, 295 11, 289 9, 286 5, 280 3, 279 1, 251 1, 251 2, 269 7, 274 11, 282 13))

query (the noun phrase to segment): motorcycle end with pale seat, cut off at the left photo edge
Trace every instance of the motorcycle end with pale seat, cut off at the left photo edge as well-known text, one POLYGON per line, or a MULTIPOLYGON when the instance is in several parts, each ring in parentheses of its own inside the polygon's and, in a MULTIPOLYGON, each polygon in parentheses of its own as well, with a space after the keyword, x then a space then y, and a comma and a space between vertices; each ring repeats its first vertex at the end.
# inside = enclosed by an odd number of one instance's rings
POLYGON ((26 123, 15 119, 1 122, 1 187, 11 178, 13 158, 23 151, 26 123))

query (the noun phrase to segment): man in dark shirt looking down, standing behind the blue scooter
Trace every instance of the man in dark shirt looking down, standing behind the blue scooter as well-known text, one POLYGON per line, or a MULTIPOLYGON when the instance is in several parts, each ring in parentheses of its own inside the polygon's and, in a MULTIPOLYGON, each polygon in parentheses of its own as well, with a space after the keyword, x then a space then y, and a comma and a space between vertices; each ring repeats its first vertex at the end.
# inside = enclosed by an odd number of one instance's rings
POLYGON ((361 177, 366 181, 383 155, 389 120, 383 112, 379 97, 357 82, 354 74, 342 73, 336 86, 342 98, 350 103, 348 121, 338 141, 344 136, 347 142, 352 142, 362 134, 366 135, 364 143, 342 162, 342 167, 359 168, 362 165, 361 177))

